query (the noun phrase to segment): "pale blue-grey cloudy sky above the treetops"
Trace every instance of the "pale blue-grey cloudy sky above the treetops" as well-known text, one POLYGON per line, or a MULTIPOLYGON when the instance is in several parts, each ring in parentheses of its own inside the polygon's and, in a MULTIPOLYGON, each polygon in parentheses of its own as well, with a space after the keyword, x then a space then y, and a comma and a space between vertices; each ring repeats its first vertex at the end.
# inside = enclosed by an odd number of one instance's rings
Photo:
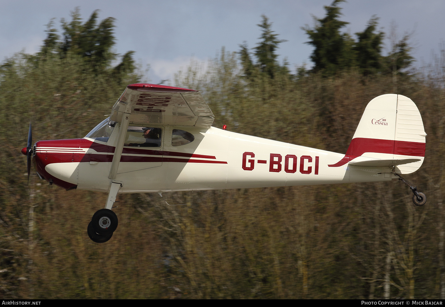
MULTIPOLYGON (((173 74, 194 57, 207 61, 224 46, 238 51, 247 42, 250 48, 259 41, 257 24, 261 15, 273 22, 272 29, 280 39, 280 61, 286 57, 291 69, 306 63, 312 46, 304 44, 308 37, 301 29, 314 26, 313 16, 324 17, 324 5, 332 0, 0 0, 0 59, 11 57, 24 49, 39 50, 45 38, 45 24, 55 18, 71 20, 70 12, 80 7, 81 16, 89 18, 99 9, 99 19, 116 18, 116 53, 134 50, 135 59, 144 68, 150 65, 147 77, 152 83, 172 79, 173 74)), ((431 62, 432 52, 438 53, 445 40, 444 0, 349 0, 340 4, 341 20, 347 21, 344 32, 353 35, 364 30, 372 15, 380 17, 379 26, 387 34, 391 24, 397 32, 413 32, 411 42, 416 47, 416 65, 431 62)), ((60 28, 60 27, 59 27, 60 28)), ((355 36, 354 36, 355 37, 355 36)), ((386 41, 387 51, 389 42, 386 41)))

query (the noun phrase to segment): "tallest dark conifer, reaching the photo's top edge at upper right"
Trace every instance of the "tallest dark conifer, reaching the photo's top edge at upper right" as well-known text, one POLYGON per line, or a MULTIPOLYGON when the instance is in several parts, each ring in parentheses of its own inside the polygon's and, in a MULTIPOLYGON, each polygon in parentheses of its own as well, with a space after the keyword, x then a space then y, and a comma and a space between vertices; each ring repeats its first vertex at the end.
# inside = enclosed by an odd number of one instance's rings
POLYGON ((344 0, 334 0, 330 6, 325 6, 326 16, 315 19, 315 28, 308 26, 302 28, 311 39, 307 44, 315 47, 311 55, 314 62, 314 71, 324 70, 325 73, 334 74, 338 69, 353 66, 354 40, 348 33, 341 33, 340 29, 349 24, 339 20, 341 8, 338 7, 344 0))

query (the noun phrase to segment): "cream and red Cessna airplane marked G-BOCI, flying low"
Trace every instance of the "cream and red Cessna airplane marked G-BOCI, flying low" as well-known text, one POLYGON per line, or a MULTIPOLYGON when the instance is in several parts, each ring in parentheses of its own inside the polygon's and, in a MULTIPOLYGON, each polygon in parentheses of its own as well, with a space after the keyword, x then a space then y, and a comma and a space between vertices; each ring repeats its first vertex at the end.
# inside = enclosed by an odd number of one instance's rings
POLYGON ((88 225, 94 242, 117 228, 117 193, 141 193, 378 182, 420 168, 423 122, 408 97, 387 94, 368 103, 346 154, 271 141, 212 127, 214 115, 198 91, 132 84, 111 115, 81 139, 38 141, 22 153, 40 178, 66 190, 108 192, 88 225))

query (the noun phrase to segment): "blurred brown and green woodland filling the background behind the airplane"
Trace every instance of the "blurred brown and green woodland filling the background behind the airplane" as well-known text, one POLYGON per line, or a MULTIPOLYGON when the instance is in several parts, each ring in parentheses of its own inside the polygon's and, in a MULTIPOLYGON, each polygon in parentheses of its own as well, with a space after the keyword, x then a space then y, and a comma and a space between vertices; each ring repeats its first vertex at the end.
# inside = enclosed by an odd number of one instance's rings
MULTIPOLYGON (((321 24, 338 18, 339 2, 321 24)), ((396 88, 417 104, 428 133, 424 165, 407 176, 427 204, 415 207, 396 180, 167 196, 186 206, 120 194, 119 227, 97 244, 86 226, 106 194, 67 192, 35 175, 27 186, 20 154, 29 121, 34 141, 84 137, 138 81, 131 54, 111 66, 113 19, 96 20, 94 12, 82 24, 76 11, 62 22, 63 40, 50 24, 40 53, 1 65, 0 297, 445 298, 445 57, 422 74, 380 70, 384 34, 373 17, 358 42, 337 36, 368 56, 339 60, 335 73, 314 60, 313 71, 292 75, 276 61, 282 40, 263 16, 253 54, 247 44, 222 49, 206 71, 192 63, 178 72, 175 85, 200 90, 217 127, 340 153, 368 101, 396 88), (108 43, 92 49, 101 33, 108 43)), ((412 60, 405 43, 392 52, 405 61, 393 62, 397 70, 412 60)))

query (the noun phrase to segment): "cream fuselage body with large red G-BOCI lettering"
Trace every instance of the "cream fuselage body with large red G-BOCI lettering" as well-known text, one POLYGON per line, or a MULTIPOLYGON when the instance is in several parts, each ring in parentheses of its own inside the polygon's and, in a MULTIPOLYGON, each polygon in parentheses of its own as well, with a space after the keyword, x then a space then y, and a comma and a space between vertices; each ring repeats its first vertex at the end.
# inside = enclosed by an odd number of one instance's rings
MULTIPOLYGON (((113 180, 108 174, 118 129, 107 143, 84 138, 84 143, 95 146, 54 149, 53 144, 53 147, 42 144, 36 152, 42 159, 44 153, 64 151, 68 161, 59 159, 45 166, 45 171, 54 178, 77 185, 78 189, 97 191, 107 191, 111 181, 121 182, 119 193, 376 182, 395 178, 390 167, 332 166, 342 160, 344 154, 214 127, 204 131, 187 127, 195 140, 174 147, 169 138, 174 128, 183 127, 162 127, 165 137, 160 148, 124 148, 113 180), (76 160, 75 154, 79 152, 81 157, 76 160)), ((360 159, 367 158, 358 157, 354 161, 360 159)))

